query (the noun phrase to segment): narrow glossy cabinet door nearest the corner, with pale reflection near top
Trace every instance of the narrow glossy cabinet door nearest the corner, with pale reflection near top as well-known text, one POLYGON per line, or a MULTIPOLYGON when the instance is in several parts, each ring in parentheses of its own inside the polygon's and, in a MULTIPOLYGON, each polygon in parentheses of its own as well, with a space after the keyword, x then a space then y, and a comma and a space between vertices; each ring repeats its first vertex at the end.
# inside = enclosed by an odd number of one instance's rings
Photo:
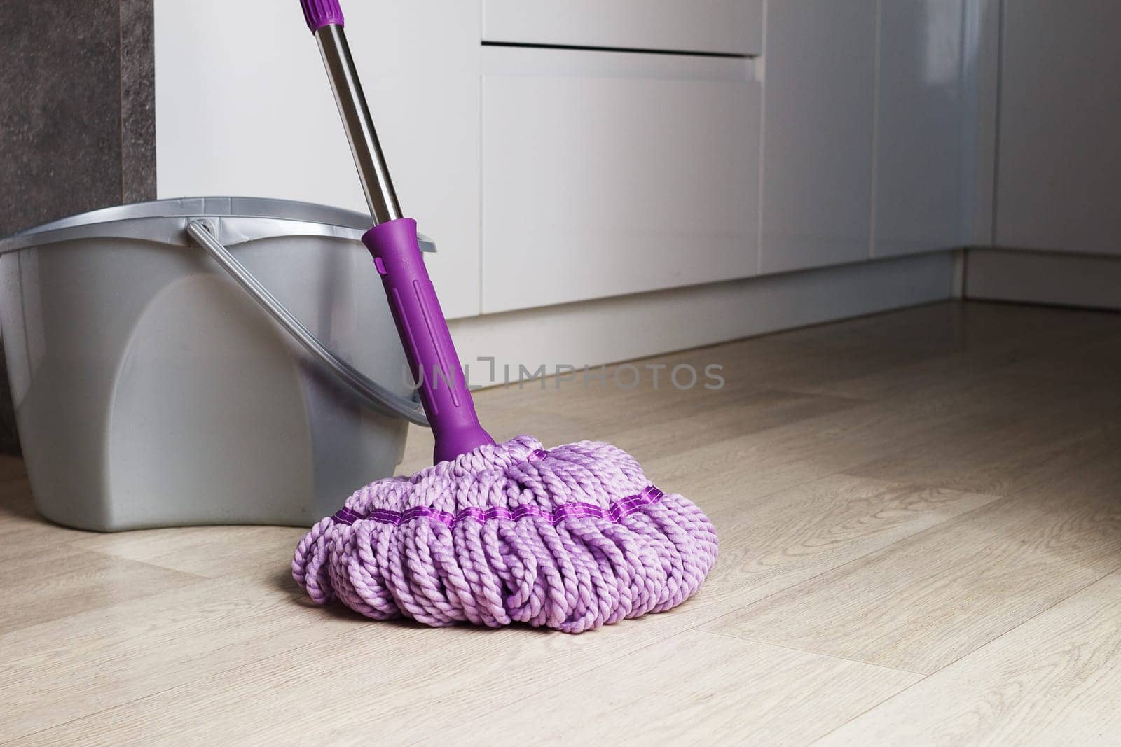
POLYGON ((966 94, 961 0, 880 3, 874 256, 963 241, 966 94))

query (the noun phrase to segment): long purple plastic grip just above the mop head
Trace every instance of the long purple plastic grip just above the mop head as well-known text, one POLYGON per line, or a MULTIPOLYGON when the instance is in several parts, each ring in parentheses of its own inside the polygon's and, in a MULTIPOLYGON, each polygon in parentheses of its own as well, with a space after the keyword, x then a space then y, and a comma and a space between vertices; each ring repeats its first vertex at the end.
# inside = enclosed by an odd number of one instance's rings
POLYGON ((450 461, 494 439, 479 424, 460 356, 417 243, 413 218, 387 221, 362 236, 373 254, 420 403, 436 437, 435 460, 450 461))

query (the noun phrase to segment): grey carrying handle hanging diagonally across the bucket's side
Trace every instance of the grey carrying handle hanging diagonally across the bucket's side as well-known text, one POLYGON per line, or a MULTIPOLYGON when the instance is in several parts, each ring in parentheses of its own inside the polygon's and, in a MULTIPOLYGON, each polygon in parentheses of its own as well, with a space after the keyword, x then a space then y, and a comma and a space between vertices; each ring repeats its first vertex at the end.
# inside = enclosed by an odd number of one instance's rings
POLYGON ((187 234, 194 239, 200 246, 206 250, 206 253, 210 254, 211 258, 217 262, 222 269, 238 282, 239 286, 244 288, 245 291, 252 296, 253 300, 256 300, 261 308, 268 311, 269 316, 276 319, 289 335, 295 337, 296 340, 304 346, 304 349, 311 353, 312 357, 326 366, 327 370, 335 374, 335 376, 346 384, 355 394, 362 398, 362 400, 385 414, 398 415, 418 426, 428 427, 428 419, 425 417, 424 410, 421 409, 419 401, 416 399, 416 394, 414 394, 413 398, 405 398, 395 394, 335 355, 326 345, 319 342, 319 338, 316 337, 311 329, 305 327, 291 311, 285 308, 284 304, 278 301, 277 298, 270 293, 256 277, 253 277, 253 273, 251 273, 245 265, 233 256, 230 250, 215 237, 214 231, 206 221, 194 220, 188 222, 187 234))

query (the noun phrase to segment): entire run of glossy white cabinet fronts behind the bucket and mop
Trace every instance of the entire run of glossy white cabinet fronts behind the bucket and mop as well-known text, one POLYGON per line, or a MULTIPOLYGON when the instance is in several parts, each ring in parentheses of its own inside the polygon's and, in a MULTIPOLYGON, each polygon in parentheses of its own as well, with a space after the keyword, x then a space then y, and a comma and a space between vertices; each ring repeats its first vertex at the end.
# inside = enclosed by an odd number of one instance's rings
MULTIPOLYGON (((943 124, 961 109, 949 22, 967 1, 370 0, 346 13, 454 318, 867 260, 873 213, 877 254, 953 245, 943 218, 962 179, 946 155, 962 127, 943 124)), ((155 0, 160 197, 365 209, 289 11, 155 0)))

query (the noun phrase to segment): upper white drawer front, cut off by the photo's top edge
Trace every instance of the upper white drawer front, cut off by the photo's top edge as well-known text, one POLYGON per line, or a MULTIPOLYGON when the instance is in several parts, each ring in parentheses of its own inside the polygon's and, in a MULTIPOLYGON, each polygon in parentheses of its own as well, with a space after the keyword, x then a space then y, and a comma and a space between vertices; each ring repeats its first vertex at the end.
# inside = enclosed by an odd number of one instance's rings
POLYGON ((762 0, 484 0, 483 40, 757 55, 762 0))

